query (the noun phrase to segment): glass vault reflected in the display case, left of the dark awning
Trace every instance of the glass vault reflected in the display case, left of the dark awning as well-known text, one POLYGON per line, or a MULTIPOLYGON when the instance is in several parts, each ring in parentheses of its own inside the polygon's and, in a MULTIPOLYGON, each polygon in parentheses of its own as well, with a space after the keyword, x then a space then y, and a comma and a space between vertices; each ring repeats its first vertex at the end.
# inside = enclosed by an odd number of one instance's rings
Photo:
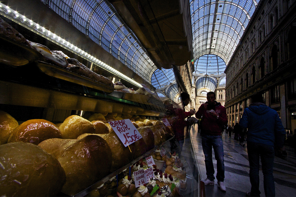
POLYGON ((156 66, 108 1, 41 1, 136 74, 151 82, 151 71, 154 71, 156 66))

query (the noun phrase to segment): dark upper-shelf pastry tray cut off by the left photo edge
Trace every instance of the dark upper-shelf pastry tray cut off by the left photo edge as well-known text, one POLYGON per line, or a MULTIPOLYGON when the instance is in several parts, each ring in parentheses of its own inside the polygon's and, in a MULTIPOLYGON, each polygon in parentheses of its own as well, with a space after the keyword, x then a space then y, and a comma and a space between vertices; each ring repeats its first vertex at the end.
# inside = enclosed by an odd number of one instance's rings
POLYGON ((0 63, 9 66, 23 66, 35 60, 44 61, 41 53, 35 49, 0 35, 0 63))

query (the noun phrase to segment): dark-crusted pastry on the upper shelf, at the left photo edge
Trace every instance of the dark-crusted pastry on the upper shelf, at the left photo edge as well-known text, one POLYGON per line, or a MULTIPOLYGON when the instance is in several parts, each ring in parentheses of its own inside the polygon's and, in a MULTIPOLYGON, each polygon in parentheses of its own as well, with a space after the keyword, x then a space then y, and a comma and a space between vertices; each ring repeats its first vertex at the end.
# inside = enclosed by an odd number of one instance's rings
POLYGON ((25 37, 0 17, 0 34, 31 47, 25 37))

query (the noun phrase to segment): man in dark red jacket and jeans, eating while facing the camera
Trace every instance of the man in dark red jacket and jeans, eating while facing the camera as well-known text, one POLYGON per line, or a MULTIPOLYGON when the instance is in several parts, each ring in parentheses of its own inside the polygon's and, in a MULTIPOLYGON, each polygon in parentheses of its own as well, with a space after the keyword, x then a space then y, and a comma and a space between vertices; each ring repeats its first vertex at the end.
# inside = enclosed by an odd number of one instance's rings
POLYGON ((202 116, 202 150, 205 154, 205 168, 207 178, 203 181, 205 185, 214 185, 214 165, 212 160, 212 146, 217 160, 217 181, 221 191, 226 191, 224 185, 224 150, 221 133, 223 125, 227 124, 226 109, 220 102, 215 101, 214 92, 207 93, 207 102, 202 104, 195 114, 196 118, 202 116))

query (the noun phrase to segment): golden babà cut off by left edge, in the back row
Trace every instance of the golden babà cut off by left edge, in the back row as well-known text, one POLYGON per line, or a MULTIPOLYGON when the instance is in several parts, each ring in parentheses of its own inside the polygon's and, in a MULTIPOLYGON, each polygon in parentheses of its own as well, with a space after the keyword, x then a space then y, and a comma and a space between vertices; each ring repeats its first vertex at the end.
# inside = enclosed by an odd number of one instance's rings
POLYGON ((6 144, 14 128, 19 126, 17 120, 8 113, 0 110, 0 144, 6 144))

